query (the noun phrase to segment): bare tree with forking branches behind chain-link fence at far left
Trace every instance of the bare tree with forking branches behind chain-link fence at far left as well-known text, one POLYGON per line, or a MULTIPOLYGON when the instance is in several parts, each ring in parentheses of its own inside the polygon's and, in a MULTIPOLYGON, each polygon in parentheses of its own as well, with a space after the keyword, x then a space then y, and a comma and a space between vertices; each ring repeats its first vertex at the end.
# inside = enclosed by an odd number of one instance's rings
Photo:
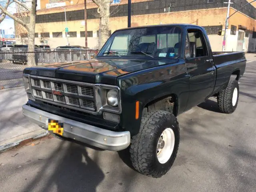
MULTIPOLYGON (((17 16, 14 16, 13 14, 11 14, 2 5, 0 5, 0 10, 2 10, 2 12, 4 14, 9 16, 14 21, 16 21, 19 24, 21 24, 22 26, 24 26, 24 28, 26 28, 26 30, 28 30, 28 51, 34 52, 34 50, 35 50, 35 46, 34 46, 34 44, 35 44, 35 26, 36 26, 36 1, 37 0, 31 0, 31 8, 26 6, 26 4, 23 0, 12 0, 12 1, 15 2, 16 4, 19 4, 20 6, 24 7, 26 10, 28 10, 28 15, 30 17, 30 22, 28 24, 26 24, 26 22, 23 22, 22 20, 20 20, 17 16)), ((30 54, 30 56, 28 57, 28 65, 29 66, 36 65, 36 60, 35 60, 34 54, 30 54)))

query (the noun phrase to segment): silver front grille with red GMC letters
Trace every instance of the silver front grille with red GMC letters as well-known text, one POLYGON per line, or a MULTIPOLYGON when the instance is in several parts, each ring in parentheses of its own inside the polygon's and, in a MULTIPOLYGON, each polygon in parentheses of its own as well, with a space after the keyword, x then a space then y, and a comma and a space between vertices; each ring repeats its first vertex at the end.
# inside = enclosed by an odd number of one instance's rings
POLYGON ((53 78, 30 78, 34 97, 66 108, 96 111, 94 86, 53 78))

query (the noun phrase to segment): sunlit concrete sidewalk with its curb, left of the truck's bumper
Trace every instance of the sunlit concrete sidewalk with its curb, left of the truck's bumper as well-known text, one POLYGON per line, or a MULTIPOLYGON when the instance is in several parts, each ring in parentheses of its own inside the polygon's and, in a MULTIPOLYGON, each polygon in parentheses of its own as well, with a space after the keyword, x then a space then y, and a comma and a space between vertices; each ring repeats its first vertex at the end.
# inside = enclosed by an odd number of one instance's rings
POLYGON ((0 90, 0 151, 46 135, 45 130, 23 116, 22 105, 27 100, 24 87, 0 90))

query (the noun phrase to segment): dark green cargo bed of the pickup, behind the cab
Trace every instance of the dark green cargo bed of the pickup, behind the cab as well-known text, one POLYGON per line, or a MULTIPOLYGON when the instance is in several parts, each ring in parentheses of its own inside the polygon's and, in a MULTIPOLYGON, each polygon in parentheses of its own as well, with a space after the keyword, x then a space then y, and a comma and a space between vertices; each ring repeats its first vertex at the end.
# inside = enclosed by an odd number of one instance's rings
POLYGON ((240 78, 245 71, 246 58, 244 52, 212 52, 216 67, 216 83, 214 93, 225 88, 230 75, 240 78))

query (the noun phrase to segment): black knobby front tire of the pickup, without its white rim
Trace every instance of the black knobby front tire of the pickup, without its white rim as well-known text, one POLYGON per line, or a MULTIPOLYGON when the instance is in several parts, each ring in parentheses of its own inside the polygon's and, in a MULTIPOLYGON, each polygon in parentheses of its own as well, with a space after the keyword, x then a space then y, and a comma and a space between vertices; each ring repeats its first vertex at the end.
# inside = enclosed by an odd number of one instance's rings
MULTIPOLYGON (((154 157, 152 155, 154 153, 154 143, 152 141, 156 138, 156 133, 160 130, 160 125, 164 124, 166 120, 168 122, 175 122, 178 126, 176 117, 169 112, 158 110, 144 114, 138 134, 131 138, 130 156, 132 165, 138 172, 144 175, 159 178, 170 170, 174 162, 173 160, 164 172, 156 171, 154 164, 152 164, 152 158, 154 157)), ((173 159, 176 158, 178 148, 174 152, 173 159)))

